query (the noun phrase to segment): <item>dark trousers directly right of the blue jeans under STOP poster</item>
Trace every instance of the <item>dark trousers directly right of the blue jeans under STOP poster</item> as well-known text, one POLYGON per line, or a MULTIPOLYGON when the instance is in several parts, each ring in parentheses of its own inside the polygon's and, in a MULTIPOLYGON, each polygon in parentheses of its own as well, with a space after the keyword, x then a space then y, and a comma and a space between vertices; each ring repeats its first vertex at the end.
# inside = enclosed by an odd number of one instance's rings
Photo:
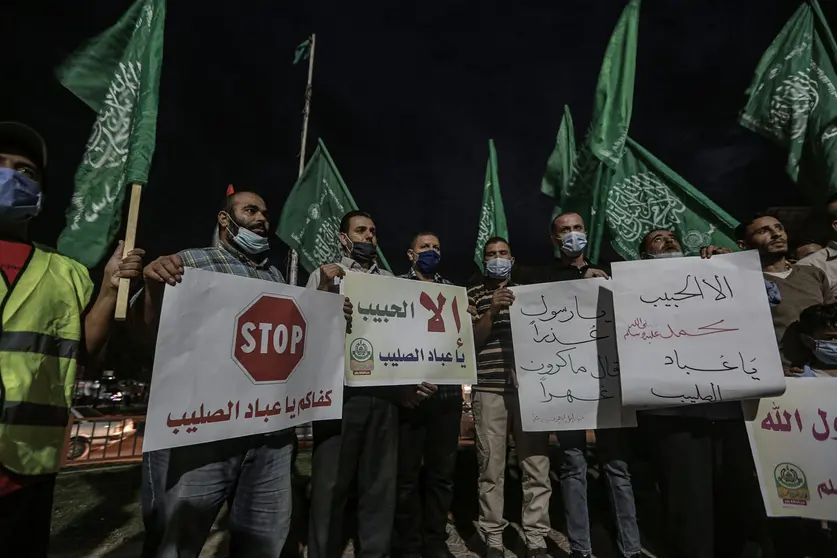
MULTIPOLYGON (((348 390, 347 390, 348 391, 348 390)), ((357 491, 355 556, 389 556, 395 516, 398 409, 387 399, 351 395, 343 419, 314 423, 310 558, 340 558, 350 492, 357 491)))

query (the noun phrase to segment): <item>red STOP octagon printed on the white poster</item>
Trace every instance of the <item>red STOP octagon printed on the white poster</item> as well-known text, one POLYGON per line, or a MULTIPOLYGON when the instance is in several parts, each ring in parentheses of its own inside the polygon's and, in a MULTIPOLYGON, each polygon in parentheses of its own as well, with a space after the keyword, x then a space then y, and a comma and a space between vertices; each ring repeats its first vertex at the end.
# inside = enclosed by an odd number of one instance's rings
POLYGON ((236 316, 233 360, 253 383, 285 382, 305 356, 307 329, 294 299, 261 294, 236 316))

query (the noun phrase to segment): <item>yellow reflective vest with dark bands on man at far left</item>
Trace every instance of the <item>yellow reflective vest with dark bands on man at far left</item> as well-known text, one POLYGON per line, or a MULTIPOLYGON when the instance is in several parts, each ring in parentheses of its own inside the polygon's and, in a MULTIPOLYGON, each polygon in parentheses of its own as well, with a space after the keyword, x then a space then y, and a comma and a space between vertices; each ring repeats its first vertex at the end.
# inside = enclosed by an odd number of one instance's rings
POLYGON ((0 274, 0 465, 12 472, 61 466, 92 291, 84 266, 42 246, 12 284, 0 274))

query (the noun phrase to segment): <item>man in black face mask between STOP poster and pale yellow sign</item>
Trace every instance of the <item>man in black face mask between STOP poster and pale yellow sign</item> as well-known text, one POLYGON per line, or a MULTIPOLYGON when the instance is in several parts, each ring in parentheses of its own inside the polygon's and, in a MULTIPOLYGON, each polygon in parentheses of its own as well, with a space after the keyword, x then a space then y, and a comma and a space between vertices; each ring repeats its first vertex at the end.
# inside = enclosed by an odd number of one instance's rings
MULTIPOLYGON (((378 267, 378 234, 372 217, 350 211, 340 221, 341 258, 314 270, 309 289, 339 292, 346 273, 392 276, 378 267)), ((348 299, 347 299, 348 300, 348 299)), ((358 538, 365 556, 388 556, 395 517, 398 390, 343 391, 343 419, 314 424, 308 555, 339 557, 349 490, 357 482, 358 538)), ((422 392, 423 395, 423 392, 422 392)))

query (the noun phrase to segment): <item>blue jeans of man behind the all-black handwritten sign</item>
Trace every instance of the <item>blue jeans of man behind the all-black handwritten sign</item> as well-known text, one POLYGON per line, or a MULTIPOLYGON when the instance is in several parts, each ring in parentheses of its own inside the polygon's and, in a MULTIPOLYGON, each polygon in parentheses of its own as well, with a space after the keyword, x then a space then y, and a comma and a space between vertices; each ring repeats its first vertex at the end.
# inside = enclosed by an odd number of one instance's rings
MULTIPOLYGON (((587 438, 583 430, 556 432, 561 444, 561 463, 558 476, 561 479, 561 497, 564 500, 564 516, 567 538, 576 552, 592 552, 590 542, 590 515, 587 511, 587 438)), ((607 482, 607 496, 616 516, 616 542, 623 556, 631 556, 642 550, 639 526, 636 522, 634 490, 631 474, 620 448, 619 429, 596 431, 596 450, 607 482)))

